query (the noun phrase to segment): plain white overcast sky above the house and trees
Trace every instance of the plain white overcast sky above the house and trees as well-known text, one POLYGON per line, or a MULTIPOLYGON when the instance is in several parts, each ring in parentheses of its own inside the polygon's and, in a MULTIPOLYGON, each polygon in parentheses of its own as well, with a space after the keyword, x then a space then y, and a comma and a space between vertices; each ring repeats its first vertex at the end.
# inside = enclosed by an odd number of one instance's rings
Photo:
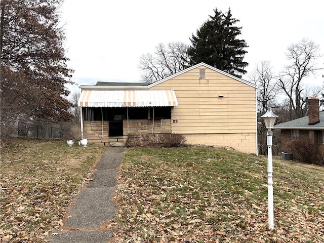
MULTIPOLYGON (((319 0, 65 0, 61 20, 68 65, 75 70, 72 81, 78 85, 139 82, 142 54, 153 53, 159 43, 190 45, 191 34, 209 15, 214 16, 215 8, 225 13, 229 7, 232 17, 240 20, 236 26, 242 26, 237 38, 249 46, 244 79, 262 60, 271 61, 279 72, 287 63, 287 47, 304 37, 318 44, 324 54, 324 2, 319 0)), ((319 59, 318 67, 323 63, 324 58, 319 59)), ((323 83, 323 73, 318 71, 311 80, 323 83)))

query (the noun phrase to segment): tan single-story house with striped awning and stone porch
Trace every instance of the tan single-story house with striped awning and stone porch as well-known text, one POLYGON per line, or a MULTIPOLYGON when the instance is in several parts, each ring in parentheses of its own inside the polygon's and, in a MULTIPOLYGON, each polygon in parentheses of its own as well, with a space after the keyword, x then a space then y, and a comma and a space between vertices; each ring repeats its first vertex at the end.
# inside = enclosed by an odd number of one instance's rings
POLYGON ((256 86, 205 63, 153 84, 79 88, 82 134, 89 142, 178 133, 188 144, 257 153, 256 86))

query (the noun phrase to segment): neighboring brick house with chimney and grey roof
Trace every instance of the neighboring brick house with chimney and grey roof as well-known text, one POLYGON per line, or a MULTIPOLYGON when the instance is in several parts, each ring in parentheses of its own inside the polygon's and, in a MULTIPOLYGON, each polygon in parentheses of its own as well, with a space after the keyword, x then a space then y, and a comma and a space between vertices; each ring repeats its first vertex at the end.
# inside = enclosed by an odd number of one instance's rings
POLYGON ((281 131, 281 152, 291 152, 290 145, 296 140, 309 139, 318 153, 324 142, 324 111, 319 111, 319 99, 308 99, 308 116, 278 124, 273 129, 281 131))

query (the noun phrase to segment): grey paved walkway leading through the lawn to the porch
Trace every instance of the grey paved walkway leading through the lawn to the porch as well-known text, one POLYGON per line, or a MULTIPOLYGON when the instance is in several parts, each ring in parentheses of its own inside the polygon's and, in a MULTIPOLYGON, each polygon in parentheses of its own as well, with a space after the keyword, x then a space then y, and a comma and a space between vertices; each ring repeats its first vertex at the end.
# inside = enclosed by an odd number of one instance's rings
POLYGON ((108 147, 95 167, 93 180, 75 197, 63 230, 51 236, 51 243, 107 243, 112 233, 105 224, 113 219, 112 201, 117 186, 117 168, 124 159, 126 148, 108 147))

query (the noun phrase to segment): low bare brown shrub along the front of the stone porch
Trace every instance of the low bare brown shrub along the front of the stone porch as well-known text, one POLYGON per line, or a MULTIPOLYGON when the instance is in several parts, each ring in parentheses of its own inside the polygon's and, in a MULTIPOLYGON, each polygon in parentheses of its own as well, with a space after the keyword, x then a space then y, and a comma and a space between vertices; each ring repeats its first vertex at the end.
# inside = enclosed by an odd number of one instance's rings
POLYGON ((126 141, 127 147, 180 147, 186 138, 182 134, 131 134, 126 141))

